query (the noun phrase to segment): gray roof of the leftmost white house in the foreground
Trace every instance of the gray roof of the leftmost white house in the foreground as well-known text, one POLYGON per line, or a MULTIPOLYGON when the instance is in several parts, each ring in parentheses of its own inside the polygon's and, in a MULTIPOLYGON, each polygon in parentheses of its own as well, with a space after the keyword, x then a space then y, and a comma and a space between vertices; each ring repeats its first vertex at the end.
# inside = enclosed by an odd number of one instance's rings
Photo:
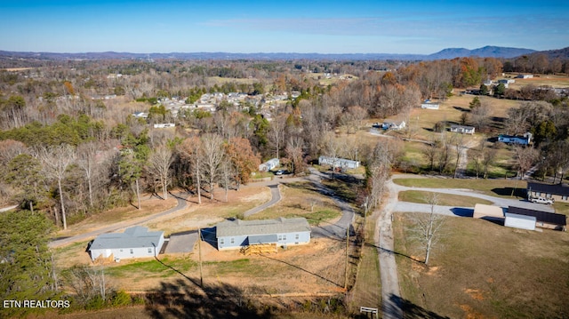
POLYGON ((148 232, 147 227, 135 226, 126 228, 124 233, 98 235, 89 250, 155 247, 163 236, 163 231, 148 232))

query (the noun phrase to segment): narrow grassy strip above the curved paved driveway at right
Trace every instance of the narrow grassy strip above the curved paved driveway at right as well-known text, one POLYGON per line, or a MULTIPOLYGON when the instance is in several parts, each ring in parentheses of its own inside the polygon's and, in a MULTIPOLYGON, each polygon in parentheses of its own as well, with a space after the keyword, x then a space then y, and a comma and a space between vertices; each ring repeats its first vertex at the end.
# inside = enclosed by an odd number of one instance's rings
MULTIPOLYGON (((397 185, 407 187, 430 187, 430 188, 462 188, 472 189, 485 195, 498 197, 511 197, 512 189, 515 188, 516 198, 525 198, 525 180, 511 179, 393 179, 397 185)), ((445 195, 446 196, 446 195, 445 195)))

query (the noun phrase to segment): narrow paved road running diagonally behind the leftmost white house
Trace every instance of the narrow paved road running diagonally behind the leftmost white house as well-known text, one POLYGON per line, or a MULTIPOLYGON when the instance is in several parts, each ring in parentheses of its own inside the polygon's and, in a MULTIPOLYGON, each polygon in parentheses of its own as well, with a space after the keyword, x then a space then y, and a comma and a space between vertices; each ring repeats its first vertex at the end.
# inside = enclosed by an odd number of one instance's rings
MULTIPOLYGON (((173 194, 172 194, 173 195, 173 194)), ((173 207, 167 211, 162 211, 162 212, 158 212, 156 214, 153 215, 149 215, 149 216, 145 216, 145 217, 141 217, 139 219, 132 219, 132 220, 126 220, 123 222, 119 222, 116 224, 113 224, 111 226, 108 227, 102 227, 99 228, 97 230, 93 230, 91 232, 87 232, 84 234, 80 234, 80 235, 74 235, 74 236, 70 236, 70 237, 65 237, 65 238, 59 238, 59 239, 55 239, 52 242, 48 243, 48 245, 51 248, 57 248, 57 247, 61 247, 61 246, 65 246, 69 243, 75 243, 75 242, 80 242, 86 239, 89 239, 91 237, 95 237, 97 235, 100 234, 104 234, 104 233, 110 233, 110 232, 114 232, 118 229, 122 229, 122 228, 126 228, 126 227, 132 227, 132 226, 137 226, 137 225, 141 225, 144 223, 147 223, 149 220, 152 219, 157 219, 166 215, 169 215, 173 212, 176 211, 180 211, 181 209, 183 209, 184 207, 186 207, 186 197, 187 195, 185 194, 178 194, 178 195, 173 195, 176 197, 178 204, 176 205, 176 207, 173 207)))

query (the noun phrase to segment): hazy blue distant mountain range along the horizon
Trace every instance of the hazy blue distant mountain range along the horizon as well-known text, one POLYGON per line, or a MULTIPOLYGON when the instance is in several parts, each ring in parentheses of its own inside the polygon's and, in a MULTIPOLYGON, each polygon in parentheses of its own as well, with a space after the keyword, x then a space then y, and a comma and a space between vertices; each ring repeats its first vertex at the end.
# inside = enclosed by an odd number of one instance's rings
MULTIPOLYGON (((555 51, 555 50, 554 50, 555 51)), ((568 49, 557 50, 567 54, 568 49), (564 51, 565 50, 565 51, 564 51)), ((556 51, 556 52, 557 52, 556 51)), ((450 48, 432 54, 389 54, 389 53, 229 53, 229 52, 172 52, 172 53, 131 53, 131 52, 7 52, 0 51, 3 60, 443 60, 460 57, 514 58, 536 52, 531 49, 485 46, 469 50, 450 48)))

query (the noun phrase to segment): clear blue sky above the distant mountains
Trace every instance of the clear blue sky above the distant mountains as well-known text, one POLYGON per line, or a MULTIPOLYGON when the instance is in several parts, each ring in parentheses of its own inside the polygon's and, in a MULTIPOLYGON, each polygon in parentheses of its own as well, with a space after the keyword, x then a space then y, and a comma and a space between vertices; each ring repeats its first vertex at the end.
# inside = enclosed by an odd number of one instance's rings
POLYGON ((0 50, 419 53, 569 46, 569 1, 0 0, 0 50))

